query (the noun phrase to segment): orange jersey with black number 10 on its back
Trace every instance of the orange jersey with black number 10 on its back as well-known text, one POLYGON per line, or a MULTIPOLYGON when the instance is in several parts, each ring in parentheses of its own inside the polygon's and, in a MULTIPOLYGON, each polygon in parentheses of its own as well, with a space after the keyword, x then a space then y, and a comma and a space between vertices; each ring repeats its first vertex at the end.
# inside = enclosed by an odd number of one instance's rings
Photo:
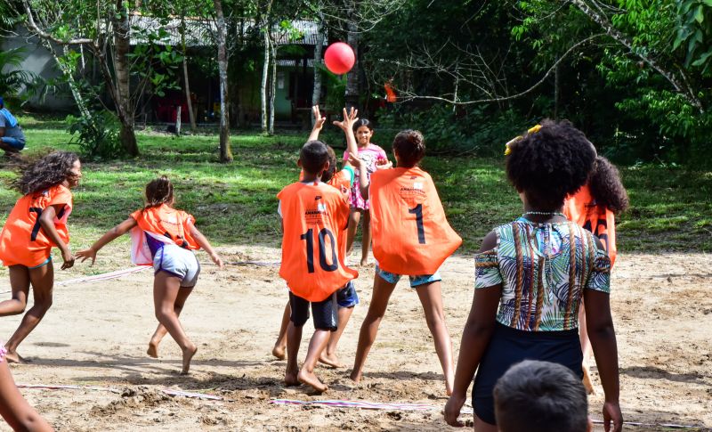
POLYGON ((349 221, 342 192, 326 183, 292 183, 277 198, 284 224, 279 276, 296 296, 323 301, 358 277, 340 252, 349 221))

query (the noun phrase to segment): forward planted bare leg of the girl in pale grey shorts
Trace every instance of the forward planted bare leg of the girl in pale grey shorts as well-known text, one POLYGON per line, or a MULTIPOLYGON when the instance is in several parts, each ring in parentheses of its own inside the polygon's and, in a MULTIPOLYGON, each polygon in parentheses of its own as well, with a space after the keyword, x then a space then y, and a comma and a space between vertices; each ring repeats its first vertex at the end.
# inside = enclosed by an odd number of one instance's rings
POLYGON ((181 347, 183 352, 182 374, 190 370, 190 360, 198 351, 198 347, 193 344, 178 321, 175 314, 175 300, 181 290, 181 280, 166 272, 158 272, 153 279, 153 305, 156 311, 158 322, 166 327, 171 338, 181 347))

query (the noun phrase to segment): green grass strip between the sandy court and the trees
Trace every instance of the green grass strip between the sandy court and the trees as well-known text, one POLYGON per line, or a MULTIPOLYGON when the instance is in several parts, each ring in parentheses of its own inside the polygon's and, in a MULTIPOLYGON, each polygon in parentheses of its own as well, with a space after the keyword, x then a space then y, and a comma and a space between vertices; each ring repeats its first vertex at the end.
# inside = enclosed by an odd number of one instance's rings
MULTIPOLYGON (((25 126, 30 149, 71 148, 66 144, 69 134, 56 122, 45 126, 43 121, 25 126)), ((177 206, 196 216, 214 244, 279 246, 275 195, 297 178, 295 160, 305 137, 233 134, 235 161, 224 165, 218 162, 215 134, 176 138, 140 133, 141 157, 85 163, 69 219, 73 248, 89 245, 140 208, 144 184, 157 175, 171 178, 177 206)), ((506 181, 503 159, 431 157, 424 168, 433 175, 449 222, 464 240, 460 252, 478 249, 493 226, 522 213, 506 181)), ((621 172, 631 208, 619 218, 620 250, 712 251, 712 173, 654 166, 622 167, 621 172)), ((0 177, 12 173, 2 171, 0 177)), ((17 198, 17 193, 0 189, 0 221, 17 198)))

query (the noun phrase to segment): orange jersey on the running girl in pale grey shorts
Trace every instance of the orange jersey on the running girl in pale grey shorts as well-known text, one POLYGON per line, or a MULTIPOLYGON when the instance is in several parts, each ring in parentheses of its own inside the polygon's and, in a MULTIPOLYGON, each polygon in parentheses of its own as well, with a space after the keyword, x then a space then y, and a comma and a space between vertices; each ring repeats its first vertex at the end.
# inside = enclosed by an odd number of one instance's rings
POLYGON ((162 243, 184 249, 200 249, 190 234, 195 219, 190 214, 166 204, 136 210, 131 214, 138 226, 131 230, 131 259, 136 265, 150 265, 162 243))

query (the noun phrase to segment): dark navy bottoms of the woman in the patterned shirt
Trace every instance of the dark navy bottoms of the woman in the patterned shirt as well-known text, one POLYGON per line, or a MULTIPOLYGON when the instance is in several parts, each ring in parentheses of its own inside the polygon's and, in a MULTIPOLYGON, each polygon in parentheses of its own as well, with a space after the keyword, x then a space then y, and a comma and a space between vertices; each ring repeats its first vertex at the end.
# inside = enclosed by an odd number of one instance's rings
POLYGON ((522 360, 559 363, 568 367, 579 379, 584 376, 578 329, 524 331, 498 322, 474 379, 473 409, 481 420, 496 424, 495 398, 492 394, 495 384, 511 366, 522 360))

